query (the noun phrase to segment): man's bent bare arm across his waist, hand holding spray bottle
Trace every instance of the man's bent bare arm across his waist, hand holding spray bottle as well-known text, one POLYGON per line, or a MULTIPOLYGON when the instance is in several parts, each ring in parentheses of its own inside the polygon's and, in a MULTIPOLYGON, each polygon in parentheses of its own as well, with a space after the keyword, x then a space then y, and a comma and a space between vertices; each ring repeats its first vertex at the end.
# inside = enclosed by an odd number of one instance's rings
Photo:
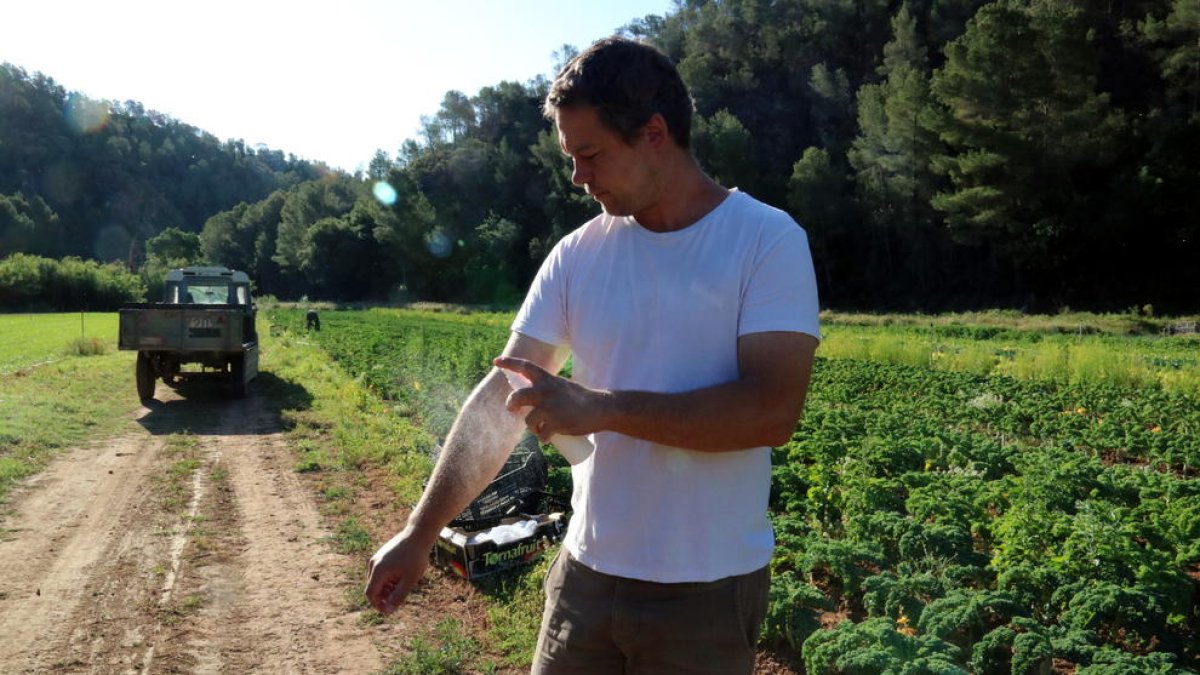
POLYGON ((534 387, 509 398, 509 408, 533 406, 529 429, 554 434, 617 431, 636 438, 721 452, 780 446, 792 437, 804 408, 817 339, 803 333, 756 333, 738 340, 738 378, 684 392, 600 392, 542 369, 497 359, 534 387))

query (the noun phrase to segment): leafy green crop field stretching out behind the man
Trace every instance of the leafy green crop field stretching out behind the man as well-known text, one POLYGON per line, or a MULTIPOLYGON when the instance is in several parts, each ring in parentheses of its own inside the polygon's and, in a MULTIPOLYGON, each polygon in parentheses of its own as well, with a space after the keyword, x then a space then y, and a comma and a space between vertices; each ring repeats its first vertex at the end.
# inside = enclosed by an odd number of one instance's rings
MULTIPOLYGON (((331 311, 305 334, 299 311, 270 317, 436 436, 509 319, 331 311)), ((798 650, 809 673, 1200 667, 1194 354, 1187 340, 827 324, 805 418, 774 452, 763 649, 798 650)), ((536 584, 515 589, 496 602, 522 628, 499 639, 522 655, 536 584)))

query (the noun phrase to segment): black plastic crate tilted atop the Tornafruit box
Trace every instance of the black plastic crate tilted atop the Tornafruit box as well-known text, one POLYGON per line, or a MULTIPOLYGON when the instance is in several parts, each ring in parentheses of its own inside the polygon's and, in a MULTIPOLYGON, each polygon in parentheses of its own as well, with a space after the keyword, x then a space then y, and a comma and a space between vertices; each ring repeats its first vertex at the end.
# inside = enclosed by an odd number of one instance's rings
POLYGON ((487 488, 470 502, 450 527, 485 530, 516 514, 539 513, 546 496, 548 468, 538 438, 526 434, 487 488))

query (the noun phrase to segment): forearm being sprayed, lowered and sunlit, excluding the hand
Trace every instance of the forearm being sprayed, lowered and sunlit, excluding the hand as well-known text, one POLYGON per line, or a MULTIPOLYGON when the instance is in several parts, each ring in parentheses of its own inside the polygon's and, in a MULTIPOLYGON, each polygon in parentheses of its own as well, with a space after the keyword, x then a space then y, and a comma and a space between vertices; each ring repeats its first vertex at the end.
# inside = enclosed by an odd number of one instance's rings
POLYGON ((496 478, 521 437, 522 422, 504 407, 509 386, 492 371, 472 392, 446 436, 408 527, 432 543, 446 522, 496 478))

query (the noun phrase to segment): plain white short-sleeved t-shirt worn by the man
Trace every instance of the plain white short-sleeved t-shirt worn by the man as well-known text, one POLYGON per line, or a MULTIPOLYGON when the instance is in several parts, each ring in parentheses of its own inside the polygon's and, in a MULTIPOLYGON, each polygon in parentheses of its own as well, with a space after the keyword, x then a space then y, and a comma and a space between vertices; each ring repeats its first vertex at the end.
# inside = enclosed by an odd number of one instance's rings
MULTIPOLYGON (((569 346, 590 388, 678 393, 738 378, 740 335, 820 336, 808 237, 786 213, 732 192, 658 233, 600 215, 542 263, 512 329, 569 346)), ((602 431, 572 467, 564 545, 606 574, 712 581, 770 561, 770 449, 672 448, 602 431)))

